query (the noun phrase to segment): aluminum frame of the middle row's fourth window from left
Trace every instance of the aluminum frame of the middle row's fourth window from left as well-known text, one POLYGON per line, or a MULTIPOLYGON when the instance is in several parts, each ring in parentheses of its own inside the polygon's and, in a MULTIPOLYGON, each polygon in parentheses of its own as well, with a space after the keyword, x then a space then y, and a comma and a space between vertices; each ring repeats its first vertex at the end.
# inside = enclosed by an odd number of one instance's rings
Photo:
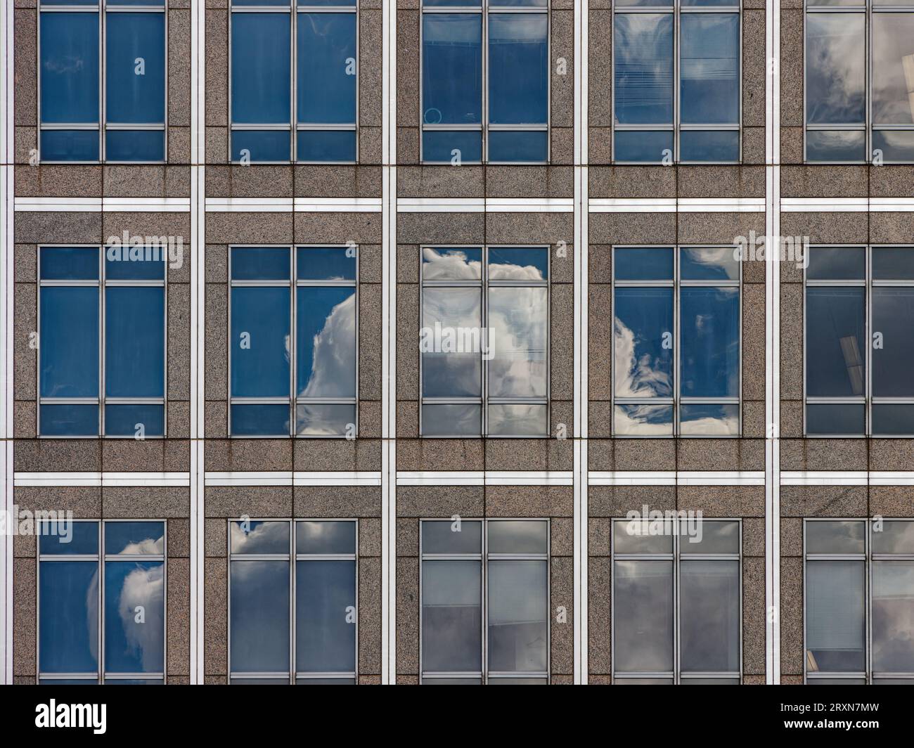
POLYGON ((736 245, 729 244, 613 244, 611 246, 611 310, 610 321, 610 408, 611 408, 611 434, 617 438, 625 439, 739 439, 743 433, 743 262, 738 262, 739 279, 737 280, 683 280, 680 272, 680 257, 682 250, 691 249, 733 249, 736 245), (616 251, 617 250, 650 250, 670 249, 673 251, 673 277, 669 281, 620 281, 616 277, 616 251), (669 398, 630 398, 616 396, 616 366, 615 366, 615 309, 617 288, 672 288, 673 289, 673 396, 669 398), (681 357, 681 294, 683 288, 736 288, 739 294, 739 362, 738 362, 738 395, 736 397, 683 397, 681 395, 682 376, 680 367, 681 357), (673 408, 673 433, 616 433, 616 405, 669 405, 673 408), (680 429, 680 414, 683 405, 736 405, 737 406, 737 433, 689 433, 683 434, 680 429))

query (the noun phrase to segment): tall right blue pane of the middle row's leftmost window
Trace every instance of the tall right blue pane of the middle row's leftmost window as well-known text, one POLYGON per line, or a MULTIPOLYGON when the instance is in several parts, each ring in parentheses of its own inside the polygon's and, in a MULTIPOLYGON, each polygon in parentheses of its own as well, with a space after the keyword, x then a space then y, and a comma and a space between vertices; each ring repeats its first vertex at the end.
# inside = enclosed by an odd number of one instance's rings
POLYGON ((165 395, 165 289, 161 286, 105 289, 105 395, 165 395))

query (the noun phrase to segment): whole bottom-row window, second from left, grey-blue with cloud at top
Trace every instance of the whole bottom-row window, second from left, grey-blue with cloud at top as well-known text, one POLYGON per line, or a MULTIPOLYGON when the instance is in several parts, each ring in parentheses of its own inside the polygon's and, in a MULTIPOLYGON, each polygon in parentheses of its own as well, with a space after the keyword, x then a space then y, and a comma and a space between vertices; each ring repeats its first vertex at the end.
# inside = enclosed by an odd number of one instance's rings
POLYGON ((355 519, 228 521, 228 670, 237 684, 355 685, 355 519))

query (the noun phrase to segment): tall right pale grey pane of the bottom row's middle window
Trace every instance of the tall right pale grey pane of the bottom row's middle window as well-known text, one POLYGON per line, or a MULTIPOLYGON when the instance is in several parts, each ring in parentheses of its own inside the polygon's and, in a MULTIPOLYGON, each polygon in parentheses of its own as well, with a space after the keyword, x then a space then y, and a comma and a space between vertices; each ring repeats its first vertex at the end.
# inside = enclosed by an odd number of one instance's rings
MULTIPOLYGON (((490 537, 493 524, 498 523, 490 523, 490 537)), ((547 562, 489 561, 488 572, 489 669, 545 672, 549 636, 547 562)))

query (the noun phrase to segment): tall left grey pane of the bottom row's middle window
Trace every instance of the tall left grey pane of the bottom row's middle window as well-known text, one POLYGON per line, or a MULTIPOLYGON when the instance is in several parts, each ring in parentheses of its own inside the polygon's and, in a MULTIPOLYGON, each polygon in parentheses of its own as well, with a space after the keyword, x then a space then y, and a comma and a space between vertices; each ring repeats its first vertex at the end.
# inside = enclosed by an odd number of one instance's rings
POLYGON ((481 576, 480 561, 422 561, 423 672, 482 670, 481 576))

